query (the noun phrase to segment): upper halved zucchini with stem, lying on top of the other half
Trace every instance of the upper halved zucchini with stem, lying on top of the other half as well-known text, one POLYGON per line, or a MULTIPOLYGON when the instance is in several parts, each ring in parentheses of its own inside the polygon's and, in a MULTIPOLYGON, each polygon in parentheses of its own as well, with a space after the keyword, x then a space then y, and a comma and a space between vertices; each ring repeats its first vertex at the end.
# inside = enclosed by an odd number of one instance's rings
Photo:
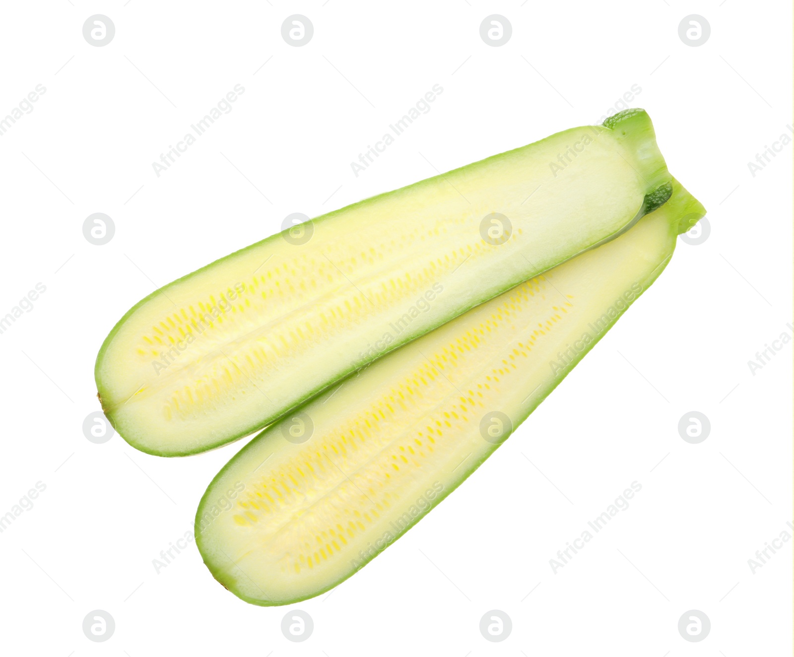
POLYGON ((627 110, 326 214, 135 305, 98 355, 102 409, 151 454, 236 440, 613 238, 669 184, 648 115, 627 110))

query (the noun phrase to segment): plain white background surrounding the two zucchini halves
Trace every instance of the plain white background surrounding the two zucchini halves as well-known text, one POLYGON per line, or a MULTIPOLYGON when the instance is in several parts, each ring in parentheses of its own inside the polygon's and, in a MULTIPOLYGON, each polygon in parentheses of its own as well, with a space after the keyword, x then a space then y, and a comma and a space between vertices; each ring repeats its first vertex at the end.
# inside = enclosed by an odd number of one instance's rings
MULTIPOLYGON (((792 521, 792 346, 748 360, 792 321, 792 144, 748 162, 792 117, 785 2, 4 3, 0 315, 46 292, 0 335, 0 514, 44 493, 0 534, 8 655, 786 655, 792 541, 748 559, 792 521), (115 24, 94 47, 83 22, 115 24), (281 24, 302 13, 301 48, 281 24), (512 24, 499 48, 491 13, 512 24), (680 40, 701 14, 711 37, 680 40), (152 162, 236 84, 245 93, 158 178, 152 162), (350 163, 434 84, 444 91, 358 177, 350 163), (709 210, 705 243, 673 262, 503 448, 363 571, 290 608, 247 605, 214 582, 192 528, 210 478, 242 442, 160 459, 118 435, 83 436, 98 410, 94 358, 119 317, 166 282, 310 217, 438 171, 599 121, 637 84, 669 169, 709 210), (104 246, 85 218, 112 217, 104 246), (698 410, 701 444, 677 425, 698 410), (629 509, 565 567, 557 550, 630 482, 629 509), (771 554, 771 553, 770 553, 771 554), (531 591, 531 593, 530 593, 531 591), (110 613, 97 644, 83 617, 110 613), (480 617, 500 609, 493 644, 480 617), (680 616, 711 619, 700 643, 680 616)), ((387 230, 387 227, 384 227, 387 230)))

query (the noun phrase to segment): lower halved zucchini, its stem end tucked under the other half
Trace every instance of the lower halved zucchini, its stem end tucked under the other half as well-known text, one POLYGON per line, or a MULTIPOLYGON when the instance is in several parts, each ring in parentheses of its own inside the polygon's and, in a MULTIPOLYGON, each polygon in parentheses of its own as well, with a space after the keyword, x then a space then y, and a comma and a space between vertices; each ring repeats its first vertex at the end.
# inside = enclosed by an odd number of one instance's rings
POLYGON ((256 605, 303 600, 348 578, 491 455, 704 212, 674 183, 673 198, 624 235, 385 356, 256 436, 198 506, 196 543, 214 577, 256 605))

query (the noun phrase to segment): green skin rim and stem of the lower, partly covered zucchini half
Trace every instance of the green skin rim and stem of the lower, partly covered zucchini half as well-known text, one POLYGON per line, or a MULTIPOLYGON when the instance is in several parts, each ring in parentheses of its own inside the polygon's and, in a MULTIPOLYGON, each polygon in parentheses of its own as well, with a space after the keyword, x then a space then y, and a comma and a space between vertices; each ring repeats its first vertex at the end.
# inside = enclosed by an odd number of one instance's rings
MULTIPOLYGON (((622 309, 619 309, 617 316, 611 320, 611 323, 608 325, 608 327, 602 330, 598 335, 596 335, 594 340, 588 343, 586 348, 584 348, 580 352, 577 352, 576 356, 573 359, 571 359, 569 363, 566 364, 565 370, 562 371, 559 375, 556 375, 548 385, 543 386, 540 390, 518 391, 518 399, 522 398, 523 394, 528 394, 528 397, 526 399, 529 401, 525 400, 526 403, 522 402, 521 404, 518 405, 517 408, 509 409, 509 415, 514 430, 515 427, 518 427, 518 425, 520 425, 522 421, 526 420, 526 417, 529 417, 530 413, 532 413, 534 409, 536 409, 538 405, 540 405, 542 401, 549 394, 551 394, 551 392, 557 387, 557 385, 559 385, 559 383, 563 380, 563 378, 569 375, 569 373, 576 366, 576 364, 579 363, 582 358, 584 358, 584 355, 586 355, 590 351, 590 349, 592 349, 595 346, 595 344, 599 342, 599 340, 603 337, 604 334, 606 334, 609 328, 615 325, 615 322, 618 321, 619 317, 622 316, 622 313, 624 313, 626 309, 628 309, 628 307, 634 301, 636 301, 637 298, 642 296, 642 294, 646 292, 648 287, 653 284, 653 282, 657 279, 657 277, 661 275, 661 272, 664 271, 665 267, 668 265, 670 259, 673 256, 673 251, 676 245, 676 235, 680 234, 680 232, 685 232, 686 230, 688 230, 688 228, 690 227, 690 223, 692 221, 696 221, 696 219, 693 217, 704 216, 705 210, 703 209, 703 206, 701 206, 700 203, 696 201, 695 198, 692 198, 692 196, 688 194, 688 192, 686 192, 686 190, 684 190, 683 187, 681 187, 680 184, 677 183, 676 181, 673 181, 672 186, 673 186, 673 196, 670 199, 668 205, 662 206, 660 209, 657 210, 657 213, 655 215, 646 217, 646 219, 643 220, 645 222, 663 221, 665 230, 663 232, 658 232, 658 235, 660 236, 659 239, 661 240, 661 244, 658 247, 658 255, 654 255, 653 259, 648 259, 644 254, 638 256, 638 257, 646 257, 646 261, 648 262, 648 264, 643 265, 643 267, 645 267, 643 271, 646 271, 646 274, 642 276, 642 279, 638 279, 636 281, 631 277, 629 277, 629 279, 626 280, 626 287, 629 285, 630 282, 637 282, 639 284, 640 291, 638 292, 638 294, 636 294, 636 296, 634 296, 633 299, 628 301, 622 309), (537 394, 535 394, 536 392, 537 394)), ((638 226, 638 229, 640 228, 641 227, 638 226)), ((656 234, 657 233, 654 233, 654 235, 656 234)), ((622 239, 625 240, 629 238, 630 238, 630 234, 627 234, 622 239)), ((609 249, 611 247, 612 244, 607 244, 604 248, 609 249)), ((611 253, 612 252, 609 252, 610 255, 611 253)), ((625 255, 625 252, 623 253, 625 255)), ((591 255, 590 262, 593 262, 593 256, 597 255, 597 253, 591 253, 590 255, 591 255)), ((607 252, 605 252, 605 256, 606 255, 607 252)), ((605 267, 612 266, 611 259, 604 259, 602 263, 606 263, 604 264, 605 267)), ((563 267, 569 267, 572 264, 573 263, 569 263, 567 265, 564 264, 560 267, 560 269, 562 269, 563 267)), ((595 273, 597 274, 597 271, 595 273)), ((587 270, 584 271, 584 274, 588 276, 590 275, 587 270)), ((549 275, 551 275, 553 278, 553 276, 555 275, 555 271, 550 271, 549 275)), ((632 289, 634 289, 634 285, 632 285, 631 287, 632 289)), ((508 291, 503 295, 503 297, 507 298, 513 292, 515 292, 515 290, 508 291)), ((500 299, 495 298, 491 302, 488 302, 487 304, 480 306, 480 308, 473 310, 472 315, 474 313, 477 313, 478 311, 485 311, 490 313, 491 310, 488 309, 487 306, 490 305, 494 309, 496 309, 499 307, 499 302, 500 299)), ((496 311, 494 310, 494 313, 495 312, 496 311)), ((406 363, 408 363, 411 350, 418 350, 419 352, 421 352, 423 348, 423 344, 427 344, 428 341, 434 336, 434 334, 447 332, 449 333, 450 336, 452 336, 450 338, 450 340, 452 340, 455 335, 462 334, 466 326, 468 325, 476 326, 479 321, 480 321, 479 317, 476 319, 469 319, 468 315, 458 317, 455 321, 450 323, 450 325, 437 329, 437 332, 432 333, 429 336, 425 336, 424 338, 422 338, 422 340, 419 340, 417 343, 409 344, 406 347, 398 350, 397 352, 393 352, 390 355, 385 356, 384 359, 381 359, 380 363, 376 363, 374 367, 380 367, 381 369, 384 369, 385 367, 388 367, 387 363, 390 362, 399 363, 402 362, 403 360, 406 363), (453 325, 457 325, 458 327, 462 327, 462 328, 460 328, 460 330, 455 329, 457 332, 454 332, 453 325)), ((405 367, 407 367, 407 365, 405 367)), ((395 366, 395 369, 392 371, 397 371, 397 366, 395 366)), ((368 374, 369 372, 371 371, 364 371, 364 373, 360 375, 360 379, 356 379, 350 385, 357 386, 356 390, 362 390, 362 391, 366 390, 368 377, 372 378, 372 375, 368 374)), ((397 375, 395 375, 395 377, 399 378, 397 375)), ((338 413, 345 413, 346 412, 345 405, 341 401, 338 401, 338 398, 337 401, 333 401, 334 394, 336 394, 336 391, 334 391, 331 394, 323 395, 321 398, 318 398, 318 400, 310 403, 309 405, 306 405, 302 409, 298 409, 296 413, 300 413, 304 410, 311 412, 314 407, 319 407, 320 405, 324 405, 326 403, 330 405, 333 404, 339 405, 340 408, 338 410, 338 413)), ((508 409, 503 409, 503 410, 508 410, 508 409)), ((395 418, 390 418, 389 424, 395 425, 395 429, 394 429, 395 432, 399 431, 400 427, 397 424, 397 421, 395 421, 395 418)), ((212 512, 212 507, 214 506, 214 501, 218 498, 218 495, 222 493, 222 490, 224 490, 225 487, 229 486, 229 482, 233 481, 235 478, 240 476, 241 468, 244 474, 248 472, 246 463, 249 462, 258 463, 261 460, 262 451, 273 450, 274 453, 277 453, 277 451, 279 450, 280 436, 278 434, 280 430, 281 428, 279 425, 274 425, 273 427, 266 429, 259 436, 256 436, 256 438, 251 440, 249 444, 245 445, 245 447, 242 448, 241 451, 239 451, 238 454, 235 455, 233 459, 231 459, 229 463, 227 463, 225 467, 222 468, 222 470, 216 475, 216 477, 210 483, 210 486, 207 487, 205 494, 202 496, 202 500, 198 505, 198 510, 195 518, 196 544, 198 546, 199 551, 202 554, 204 563, 206 564, 210 572, 213 574, 214 578, 216 578, 218 582, 222 584, 222 586, 230 590, 233 594, 237 595, 237 597, 240 597, 242 600, 249 602, 253 605, 272 606, 272 605, 294 604, 295 602, 303 601, 310 597, 314 597, 319 594, 325 593, 326 591, 332 589, 334 586, 337 586, 339 583, 345 581, 345 579, 355 574, 357 571, 360 570, 361 567, 364 567, 366 563, 369 563, 369 561, 374 559, 378 554, 380 554, 381 551, 383 551, 383 549, 385 549, 383 548, 379 551, 376 551, 374 554, 372 552, 368 552, 366 555, 364 555, 363 559, 360 559, 360 563, 357 563, 356 568, 341 572, 339 577, 334 578, 332 581, 326 582, 325 586, 320 586, 317 589, 311 590, 309 592, 296 594, 293 597, 285 596, 285 597, 278 597, 277 599, 273 599, 273 597, 269 597, 268 594, 261 588, 260 591, 262 592, 262 595, 256 597, 241 590, 241 588, 244 587, 239 586, 238 584, 239 576, 235 574, 235 571, 229 571, 228 562, 224 563, 223 560, 218 559, 219 539, 216 536, 214 536, 214 532, 221 530, 218 530, 217 526, 214 526, 213 524, 216 521, 215 520, 216 516, 212 512)), ((314 436, 312 440, 314 440, 314 436)), ((457 440, 457 436, 454 435, 449 436, 446 440, 457 440)), ((461 436, 461 440, 462 440, 462 436, 461 436)), ((475 471, 477 467, 480 467, 480 465, 484 463, 486 459, 488 459, 488 456, 490 456, 497 448, 499 448, 501 444, 503 444, 503 441, 499 442, 499 444, 489 445, 487 448, 481 451, 478 458, 473 459, 471 463, 467 462, 466 466, 461 469, 460 474, 456 475, 457 479, 452 482, 452 485, 443 487, 441 493, 438 494, 430 502, 427 508, 423 509, 422 513, 414 517, 413 521, 407 524, 403 528, 403 530, 395 536, 393 540, 389 541, 389 544, 393 544, 395 540, 399 540, 399 538, 402 537, 404 533, 408 531, 408 529, 414 526, 414 524, 416 524, 419 520, 421 520, 422 517, 425 517, 427 513, 430 513, 430 511, 434 509, 443 499, 445 499, 447 495, 449 495, 453 490, 455 490, 457 486, 460 486, 461 483, 464 482, 464 480, 468 478, 468 476, 472 474, 472 472, 475 471)), ((281 445, 283 446, 283 443, 281 443, 281 445)), ((315 447, 313 449, 320 449, 320 448, 315 447)), ((465 451, 468 448, 462 448, 462 449, 464 449, 465 451)), ((355 473, 353 471, 349 471, 349 473, 347 474, 355 476, 355 473)), ((430 481, 433 480, 437 475, 440 476, 438 471, 432 471, 432 470, 431 471, 423 470, 421 473, 423 480, 426 481, 426 485, 428 486, 430 485, 430 481)), ((239 511, 240 509, 237 510, 239 511)), ((233 511, 228 510, 223 513, 233 513, 233 511)), ((398 512, 395 511, 395 513, 398 512)), ((225 549, 223 550, 223 553, 226 554, 225 550, 229 550, 230 547, 231 546, 229 546, 228 544, 225 545, 225 549)), ((234 565, 235 567, 237 567, 237 563, 234 563, 234 565)), ((241 567, 238 568, 241 569, 241 567)), ((258 587, 259 585, 256 586, 258 587)))

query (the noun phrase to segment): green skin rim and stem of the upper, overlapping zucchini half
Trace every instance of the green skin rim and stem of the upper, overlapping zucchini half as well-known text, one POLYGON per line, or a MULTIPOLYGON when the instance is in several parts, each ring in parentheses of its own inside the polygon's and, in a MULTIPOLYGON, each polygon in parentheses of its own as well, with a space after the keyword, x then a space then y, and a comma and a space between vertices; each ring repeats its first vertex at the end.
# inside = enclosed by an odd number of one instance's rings
MULTIPOLYGON (((557 135, 549 137, 547 140, 554 138, 564 142, 566 135, 580 135, 580 132, 577 132, 580 130, 581 129, 572 129, 564 133, 557 133, 557 135)), ((599 239, 594 240, 592 244, 583 245, 579 250, 568 252, 561 258, 532 263, 532 267, 518 268, 515 267, 515 264, 511 264, 510 275, 503 275, 503 278, 499 279, 499 286, 493 286, 488 290, 484 290, 483 294, 472 296, 472 298, 461 298, 460 302, 454 305, 454 307, 450 306, 449 308, 439 311, 434 310, 434 314, 429 313, 427 317, 422 317, 420 321, 411 325, 410 330, 396 336, 391 344, 388 344, 387 347, 383 349, 377 350, 374 355, 370 354, 361 357, 352 355, 351 358, 347 359, 344 365, 340 365, 333 369, 333 371, 330 371, 326 378, 322 378, 322 380, 318 381, 306 378, 299 386, 295 387, 295 390, 291 392, 290 398, 283 400, 279 399, 279 401, 273 402, 270 408, 266 408, 267 405, 263 404, 250 418, 248 415, 241 412, 237 416, 240 418, 240 421, 233 426, 229 425, 228 430, 213 428, 206 436, 203 436, 200 440, 196 438, 195 442, 191 444, 173 444, 168 442, 168 440, 152 439, 152 429, 148 428, 147 430, 144 425, 138 421, 140 418, 134 417, 129 411, 129 407, 131 407, 132 404, 128 404, 128 401, 135 396, 133 393, 134 386, 133 389, 127 390, 126 394, 118 394, 115 390, 115 387, 118 387, 116 386, 116 380, 119 378, 118 371, 121 369, 121 364, 118 361, 118 355, 111 354, 114 348, 114 342, 119 338, 120 333, 128 327, 129 322, 135 320, 139 316, 139 313, 145 313, 148 306, 153 302, 161 301, 163 295, 173 294, 174 290, 179 290, 179 286, 195 282, 198 277, 213 272, 216 268, 225 263, 230 263, 235 261, 235 259, 245 258, 247 255, 258 252, 265 247, 275 248, 276 245, 283 244, 281 240, 283 240, 283 235, 287 231, 270 236, 247 248, 227 255, 225 258, 218 259, 214 263, 210 263, 210 265, 202 267, 181 279, 177 279, 160 290, 156 290, 154 293, 149 294, 146 298, 141 300, 141 302, 134 305, 133 308, 130 309, 128 313, 125 313, 125 316, 118 321, 102 344, 102 348, 100 348, 94 366, 94 378, 97 382, 98 398, 102 404, 102 410, 106 413, 106 417, 110 421, 110 424, 113 425, 119 434, 133 447, 152 455, 168 457, 183 456, 221 447, 243 436, 248 436, 252 432, 256 432, 260 428, 271 424, 273 421, 277 421, 280 417, 283 417, 285 413, 289 413, 291 409, 295 409, 311 398, 314 398, 314 396, 322 393, 323 390, 326 390, 335 382, 340 381, 342 378, 349 376, 355 371, 359 371, 362 367, 366 367, 373 359, 379 358, 391 352, 393 349, 399 348, 403 344, 407 344, 411 340, 424 335, 426 332, 468 311, 468 309, 502 294, 503 291, 510 289, 519 282, 526 280, 528 277, 537 275, 549 267, 564 262, 565 259, 575 257, 581 252, 590 248, 595 248, 595 246, 619 236, 622 232, 630 229, 642 216, 653 211, 653 209, 656 209, 669 198, 671 177, 667 171, 664 159, 658 152, 653 126, 643 110, 626 110, 623 113, 615 115, 615 117, 611 117, 608 121, 605 121, 604 127, 592 126, 592 130, 595 139, 598 139, 599 136, 602 135, 608 135, 608 138, 614 140, 619 148, 623 148, 626 153, 631 154, 630 157, 633 161, 630 163, 630 166, 638 172, 638 175, 642 176, 644 181, 643 185, 646 186, 645 197, 641 202, 638 202, 638 207, 632 210, 633 216, 626 217, 622 225, 617 226, 613 232, 599 236, 599 239)), ((354 211, 368 210, 376 207, 380 208, 389 202, 402 202, 402 200, 410 196, 410 194, 414 194, 415 190, 425 189, 427 186, 445 185, 453 176, 460 176, 463 179, 465 179, 466 176, 476 177, 476 175, 478 175, 477 172, 481 171, 482 167, 486 165, 496 166, 499 165, 499 163, 515 161, 521 152, 524 152, 525 149, 532 146, 534 146, 534 144, 517 148, 498 156, 491 156, 490 158, 480 160, 480 162, 469 164, 446 174, 434 176, 420 183, 414 183, 413 185, 403 187, 399 190, 394 190, 387 194, 380 194, 379 196, 354 203, 351 206, 346 206, 345 208, 322 215, 322 217, 315 218, 311 221, 311 225, 313 226, 315 234, 319 235, 326 229, 333 229, 333 225, 335 225, 334 220, 337 219, 337 217, 349 216, 349 214, 354 211)), ((623 159, 626 158, 624 157, 623 159)), ((416 244, 416 248, 422 248, 422 245, 416 244)), ((505 263, 507 263, 507 260, 505 260, 505 263)), ((278 388, 279 382, 274 382, 274 387, 278 388)), ((211 416, 211 413, 208 413, 208 415, 211 416)), ((185 430, 181 432, 181 435, 195 436, 195 428, 185 428, 185 430)))

